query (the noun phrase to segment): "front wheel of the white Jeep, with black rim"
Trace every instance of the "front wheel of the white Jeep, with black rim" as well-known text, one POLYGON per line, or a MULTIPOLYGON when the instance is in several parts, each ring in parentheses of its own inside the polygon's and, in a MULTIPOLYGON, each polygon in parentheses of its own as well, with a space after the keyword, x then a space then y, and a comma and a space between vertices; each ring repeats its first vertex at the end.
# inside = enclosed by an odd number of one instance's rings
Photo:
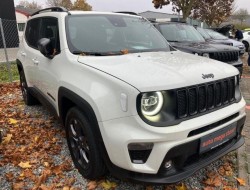
POLYGON ((73 107, 68 111, 65 129, 69 151, 78 171, 87 179, 103 176, 106 166, 97 139, 90 122, 78 108, 73 107))

